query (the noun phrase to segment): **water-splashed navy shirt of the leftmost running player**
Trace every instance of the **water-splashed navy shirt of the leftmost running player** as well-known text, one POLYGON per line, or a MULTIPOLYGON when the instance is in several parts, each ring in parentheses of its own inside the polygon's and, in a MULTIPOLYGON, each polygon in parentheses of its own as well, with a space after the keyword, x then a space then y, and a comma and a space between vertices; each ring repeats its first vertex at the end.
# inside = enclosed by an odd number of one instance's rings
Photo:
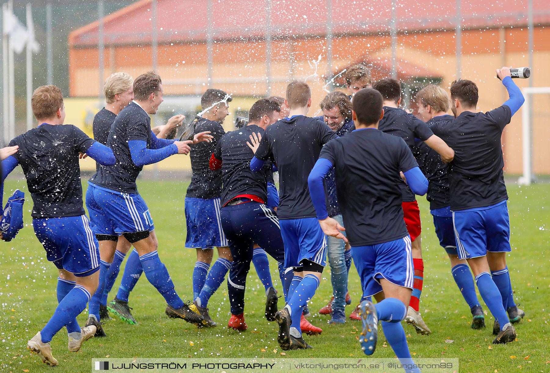
POLYGON ((25 172, 33 218, 75 217, 84 214, 78 155, 95 141, 73 125, 42 123, 10 141, 19 145, 12 155, 25 172))

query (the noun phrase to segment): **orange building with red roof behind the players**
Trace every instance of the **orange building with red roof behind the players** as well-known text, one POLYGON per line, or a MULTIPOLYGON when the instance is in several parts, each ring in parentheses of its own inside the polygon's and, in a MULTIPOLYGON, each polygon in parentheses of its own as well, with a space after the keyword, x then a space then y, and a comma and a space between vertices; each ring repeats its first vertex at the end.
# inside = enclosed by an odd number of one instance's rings
MULTIPOLYGON (((91 118, 102 106, 103 81, 116 71, 137 77, 153 69, 161 75, 168 96, 153 118, 157 124, 174 113, 184 113, 190 120, 199 111, 200 95, 209 87, 232 93, 232 115, 224 123, 228 130, 233 129, 233 118, 247 115, 256 99, 284 96, 290 79, 306 79, 311 85, 310 114, 316 113, 328 91, 343 89, 339 79, 335 83, 331 79, 356 62, 371 68, 373 80, 399 78, 404 104, 413 109, 414 95, 424 85, 436 83, 448 90, 457 77, 478 84, 479 110, 494 109, 507 98, 494 73, 503 65, 531 67, 530 79, 515 80, 521 88, 550 86, 548 0, 53 4, 53 83, 71 98, 65 103, 66 122, 88 132, 91 118), (59 40, 71 27, 68 39, 59 40)), ((33 13, 40 18, 41 8, 33 13)), ((43 19, 35 23, 47 29, 43 19)), ((38 41, 41 35, 37 31, 38 41)), ((36 86, 43 84, 35 80, 36 86)), ((531 110, 533 170, 550 174, 550 148, 546 146, 550 94, 534 95, 531 110)), ((523 170, 521 111, 503 136, 509 174, 519 175, 523 170)), ((86 167, 93 167, 88 163, 86 167)), ((185 169, 188 158, 171 157, 159 167, 185 169)))

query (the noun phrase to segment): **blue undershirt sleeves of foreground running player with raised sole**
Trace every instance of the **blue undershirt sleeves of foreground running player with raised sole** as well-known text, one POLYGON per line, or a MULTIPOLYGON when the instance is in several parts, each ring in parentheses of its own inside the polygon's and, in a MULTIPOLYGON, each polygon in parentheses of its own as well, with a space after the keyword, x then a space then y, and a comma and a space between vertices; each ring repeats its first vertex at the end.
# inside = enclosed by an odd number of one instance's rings
MULTIPOLYGON (((328 217, 327 203, 324 199, 323 180, 327 176, 328 171, 332 169, 332 162, 328 159, 319 158, 313 166, 309 177, 307 177, 307 185, 309 186, 311 202, 315 207, 318 220, 324 220, 328 217)), ((422 174, 419 167, 414 167, 409 171, 403 172, 407 178, 407 183, 412 192, 423 196, 428 191, 428 180, 422 174)))

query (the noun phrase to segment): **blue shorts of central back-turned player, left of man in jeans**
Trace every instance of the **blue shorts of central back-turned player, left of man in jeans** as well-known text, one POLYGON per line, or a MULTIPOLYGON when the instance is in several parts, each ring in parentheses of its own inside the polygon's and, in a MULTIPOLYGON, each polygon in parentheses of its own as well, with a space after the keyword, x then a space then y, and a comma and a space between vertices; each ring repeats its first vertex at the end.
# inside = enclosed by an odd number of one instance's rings
POLYGON ((317 218, 279 220, 284 243, 284 268, 301 267, 307 259, 326 266, 327 236, 317 218))

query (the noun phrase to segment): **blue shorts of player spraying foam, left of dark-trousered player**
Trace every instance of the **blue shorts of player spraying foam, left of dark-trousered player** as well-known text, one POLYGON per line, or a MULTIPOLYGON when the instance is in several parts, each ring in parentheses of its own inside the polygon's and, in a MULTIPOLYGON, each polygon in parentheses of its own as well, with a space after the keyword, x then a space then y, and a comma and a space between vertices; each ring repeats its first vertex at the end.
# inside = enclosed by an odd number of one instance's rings
POLYGON ((187 237, 185 247, 206 248, 229 246, 223 233, 219 198, 185 197, 187 237))

